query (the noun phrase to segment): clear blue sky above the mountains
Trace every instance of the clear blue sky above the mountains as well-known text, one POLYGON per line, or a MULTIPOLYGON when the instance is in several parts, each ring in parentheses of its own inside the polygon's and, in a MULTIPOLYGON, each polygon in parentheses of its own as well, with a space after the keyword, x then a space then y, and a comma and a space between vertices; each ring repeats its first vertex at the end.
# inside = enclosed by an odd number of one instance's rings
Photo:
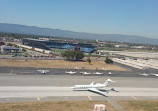
POLYGON ((158 0, 0 0, 0 23, 158 38, 158 0))

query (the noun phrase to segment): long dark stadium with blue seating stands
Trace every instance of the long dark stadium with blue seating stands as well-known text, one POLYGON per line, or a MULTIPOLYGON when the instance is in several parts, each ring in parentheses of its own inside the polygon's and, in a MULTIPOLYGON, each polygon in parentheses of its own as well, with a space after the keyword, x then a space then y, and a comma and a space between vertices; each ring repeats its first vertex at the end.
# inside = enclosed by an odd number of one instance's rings
POLYGON ((22 39, 22 44, 34 48, 45 49, 45 50, 50 50, 51 48, 58 48, 58 49, 81 51, 85 53, 93 52, 96 48, 92 44, 67 43, 67 42, 59 42, 54 40, 40 40, 40 39, 28 39, 28 38, 22 39))

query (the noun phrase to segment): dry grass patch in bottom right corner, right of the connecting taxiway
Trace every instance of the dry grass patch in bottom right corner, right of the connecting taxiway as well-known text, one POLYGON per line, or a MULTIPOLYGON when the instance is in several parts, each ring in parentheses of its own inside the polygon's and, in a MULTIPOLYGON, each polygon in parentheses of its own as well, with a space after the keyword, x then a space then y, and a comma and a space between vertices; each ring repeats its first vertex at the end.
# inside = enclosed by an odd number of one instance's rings
POLYGON ((126 111, 158 111, 158 101, 119 101, 126 111))

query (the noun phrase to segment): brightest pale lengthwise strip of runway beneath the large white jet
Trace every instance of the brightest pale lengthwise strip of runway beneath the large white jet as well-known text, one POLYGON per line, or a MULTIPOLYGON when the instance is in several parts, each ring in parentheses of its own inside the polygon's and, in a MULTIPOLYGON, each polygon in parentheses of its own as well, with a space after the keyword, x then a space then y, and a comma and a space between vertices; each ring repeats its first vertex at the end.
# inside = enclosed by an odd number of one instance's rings
MULTIPOLYGON (((110 87, 106 88, 110 89, 110 87)), ((115 87, 119 92, 109 92, 107 96, 158 96, 158 88, 115 87)), ((86 90, 73 91, 70 87, 0 87, 0 98, 48 96, 101 96, 86 90)))

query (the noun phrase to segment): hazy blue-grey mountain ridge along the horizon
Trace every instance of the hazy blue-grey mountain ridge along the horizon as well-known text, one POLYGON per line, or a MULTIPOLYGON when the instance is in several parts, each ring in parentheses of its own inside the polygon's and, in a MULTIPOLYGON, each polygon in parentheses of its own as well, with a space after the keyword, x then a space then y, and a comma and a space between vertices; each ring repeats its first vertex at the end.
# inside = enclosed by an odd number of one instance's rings
POLYGON ((158 45, 158 39, 138 35, 95 34, 9 23, 0 23, 0 32, 158 45))

